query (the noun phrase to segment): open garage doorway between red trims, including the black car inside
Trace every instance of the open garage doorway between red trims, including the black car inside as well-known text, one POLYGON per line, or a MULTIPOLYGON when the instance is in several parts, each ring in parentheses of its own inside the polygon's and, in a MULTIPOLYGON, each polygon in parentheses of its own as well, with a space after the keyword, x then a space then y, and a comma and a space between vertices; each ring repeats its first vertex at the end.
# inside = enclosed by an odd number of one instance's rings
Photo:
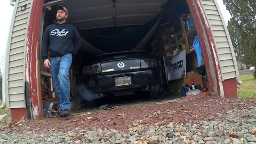
MULTIPOLYGON (((87 106, 93 106, 90 94, 92 99, 157 98, 208 91, 202 48, 185 0, 53 1, 45 4, 42 31, 59 4, 67 7, 68 20, 83 38, 70 69, 71 99, 86 95, 87 106)), ((46 107, 58 102, 43 62, 41 93, 46 107)))

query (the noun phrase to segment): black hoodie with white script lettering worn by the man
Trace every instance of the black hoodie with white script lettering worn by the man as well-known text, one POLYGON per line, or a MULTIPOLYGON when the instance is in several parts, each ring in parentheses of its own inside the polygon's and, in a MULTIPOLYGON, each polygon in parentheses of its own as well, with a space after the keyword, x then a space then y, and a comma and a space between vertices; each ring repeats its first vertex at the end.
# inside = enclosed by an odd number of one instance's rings
POLYGON ((59 24, 56 21, 44 30, 41 55, 43 61, 50 57, 60 57, 67 53, 75 55, 82 43, 82 39, 71 23, 66 21, 59 24))

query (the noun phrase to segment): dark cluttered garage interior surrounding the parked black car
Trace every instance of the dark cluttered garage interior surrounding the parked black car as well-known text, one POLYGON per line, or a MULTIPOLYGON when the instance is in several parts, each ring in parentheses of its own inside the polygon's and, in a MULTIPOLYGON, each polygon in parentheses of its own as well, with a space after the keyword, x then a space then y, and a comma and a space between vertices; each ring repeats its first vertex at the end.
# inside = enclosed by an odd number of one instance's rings
MULTIPOLYGON (((163 92, 160 99, 184 97, 194 88, 199 90, 194 94, 209 91, 201 47, 197 44, 195 49, 193 45, 197 30, 186 0, 45 1, 42 31, 53 23, 57 5, 68 9, 68 20, 83 38, 70 69, 71 100, 77 98, 77 81, 88 58, 121 51, 145 50, 161 63, 163 92), (186 53, 186 71, 183 71, 186 77, 172 79, 168 69, 175 67, 171 60, 181 52, 186 53)), ((41 94, 44 109, 49 107, 49 103, 58 103, 50 70, 44 68, 43 62, 41 94)))

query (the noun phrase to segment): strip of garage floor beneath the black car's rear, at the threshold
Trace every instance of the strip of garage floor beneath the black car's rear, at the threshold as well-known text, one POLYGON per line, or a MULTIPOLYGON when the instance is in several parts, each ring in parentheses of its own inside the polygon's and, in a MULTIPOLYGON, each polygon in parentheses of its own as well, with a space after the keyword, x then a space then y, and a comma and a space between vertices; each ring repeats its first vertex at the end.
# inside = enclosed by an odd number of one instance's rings
POLYGON ((208 92, 204 92, 197 95, 191 95, 189 97, 183 97, 181 95, 161 95, 157 99, 149 100, 143 99, 138 97, 138 95, 128 95, 125 97, 118 97, 113 99, 102 99, 99 101, 100 105, 98 107, 87 107, 86 103, 82 102, 72 102, 73 109, 71 110, 74 115, 81 115, 81 114, 90 114, 97 111, 102 111, 106 109, 114 109, 114 108, 123 108, 123 107, 134 107, 138 105, 161 105, 163 103, 170 103, 170 102, 179 102, 189 99, 195 99, 198 97, 203 97, 208 92))

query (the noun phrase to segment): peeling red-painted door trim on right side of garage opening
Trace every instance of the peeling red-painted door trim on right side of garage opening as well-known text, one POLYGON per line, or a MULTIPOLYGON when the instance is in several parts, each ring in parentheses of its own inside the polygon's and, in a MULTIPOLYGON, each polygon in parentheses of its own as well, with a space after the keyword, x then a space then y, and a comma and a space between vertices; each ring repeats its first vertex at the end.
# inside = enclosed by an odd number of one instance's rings
POLYGON ((209 28, 209 23, 207 23, 205 13, 201 11, 203 9, 203 7, 198 5, 199 1, 188 0, 187 3, 189 6, 191 15, 194 19, 196 29, 197 29, 197 34, 199 37, 199 41, 202 46, 202 52, 204 55, 205 68, 207 69, 206 73, 207 73, 207 79, 209 82, 210 92, 217 93, 218 96, 220 96, 220 84, 222 84, 222 78, 220 75, 220 66, 219 66, 219 62, 218 62, 218 57, 216 55, 217 49, 214 45, 213 36, 212 36, 211 30, 209 28), (205 39, 206 39, 206 41, 205 41, 205 39), (206 45, 210 47, 211 55, 208 55, 206 45), (212 61, 212 64, 210 64, 210 59, 212 61), (215 62, 215 61, 217 61, 217 62, 215 62), (213 66, 211 66, 211 65, 213 65, 213 66), (214 68, 215 75, 211 74, 211 71, 210 71, 211 67, 214 68), (214 80, 216 81, 215 82, 216 86, 214 86, 214 80))

